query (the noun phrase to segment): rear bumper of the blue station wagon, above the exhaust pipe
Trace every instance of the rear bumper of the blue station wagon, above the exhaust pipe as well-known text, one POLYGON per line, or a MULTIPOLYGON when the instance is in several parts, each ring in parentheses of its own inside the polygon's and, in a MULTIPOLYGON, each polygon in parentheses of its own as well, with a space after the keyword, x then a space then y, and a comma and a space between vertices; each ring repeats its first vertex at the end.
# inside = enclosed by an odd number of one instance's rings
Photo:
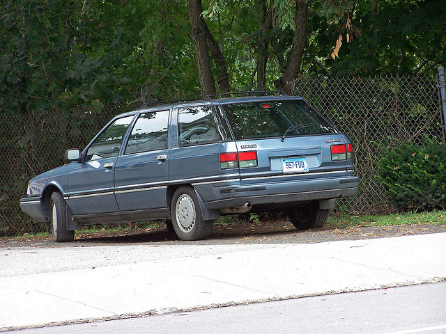
POLYGON ((206 208, 238 207, 246 202, 252 205, 280 207, 306 200, 328 200, 353 196, 357 192, 359 177, 333 177, 300 182, 268 182, 264 184, 220 186, 214 191, 221 199, 205 202, 206 208))

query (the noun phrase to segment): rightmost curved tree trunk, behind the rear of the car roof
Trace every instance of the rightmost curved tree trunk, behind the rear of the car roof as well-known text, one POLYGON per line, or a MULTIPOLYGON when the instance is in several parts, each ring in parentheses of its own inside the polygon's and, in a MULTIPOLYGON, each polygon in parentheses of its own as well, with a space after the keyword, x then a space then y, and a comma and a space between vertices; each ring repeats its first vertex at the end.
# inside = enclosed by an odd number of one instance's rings
POLYGON ((288 64, 285 72, 275 81, 275 86, 283 90, 288 95, 294 94, 293 81, 297 79, 302 56, 305 51, 307 40, 307 22, 308 22, 308 4, 304 0, 296 1, 296 13, 294 17, 295 31, 293 35, 293 44, 291 45, 288 64))

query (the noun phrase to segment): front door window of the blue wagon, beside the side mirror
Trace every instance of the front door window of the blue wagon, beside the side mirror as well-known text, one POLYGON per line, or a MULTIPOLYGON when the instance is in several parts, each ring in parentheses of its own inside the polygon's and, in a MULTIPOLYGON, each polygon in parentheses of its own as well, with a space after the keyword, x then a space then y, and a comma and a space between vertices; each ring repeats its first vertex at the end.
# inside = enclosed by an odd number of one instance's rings
POLYGON ((133 118, 132 115, 112 122, 90 145, 89 150, 86 151, 85 161, 117 157, 133 118))

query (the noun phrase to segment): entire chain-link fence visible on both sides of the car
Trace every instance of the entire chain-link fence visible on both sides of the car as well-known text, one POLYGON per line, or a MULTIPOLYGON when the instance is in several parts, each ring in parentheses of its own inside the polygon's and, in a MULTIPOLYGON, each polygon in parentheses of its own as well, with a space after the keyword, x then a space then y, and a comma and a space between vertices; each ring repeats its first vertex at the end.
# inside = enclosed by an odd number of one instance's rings
MULTIPOLYGON (((296 95, 316 106, 353 141, 360 176, 357 196, 338 200, 351 214, 391 212, 374 161, 400 141, 422 143, 424 136, 444 140, 436 82, 426 77, 323 77, 296 82, 296 95)), ((84 148, 118 113, 133 106, 28 111, 0 120, 0 236, 48 232, 20 210, 26 183, 64 163, 67 148, 84 148)))

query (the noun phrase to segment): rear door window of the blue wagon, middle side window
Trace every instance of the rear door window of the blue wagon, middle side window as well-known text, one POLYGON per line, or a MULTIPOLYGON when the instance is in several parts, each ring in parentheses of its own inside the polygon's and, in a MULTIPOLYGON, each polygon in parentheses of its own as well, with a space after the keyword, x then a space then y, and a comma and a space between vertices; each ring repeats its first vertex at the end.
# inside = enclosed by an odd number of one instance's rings
POLYGON ((168 122, 168 110, 141 113, 130 134, 125 154, 166 149, 168 122))

